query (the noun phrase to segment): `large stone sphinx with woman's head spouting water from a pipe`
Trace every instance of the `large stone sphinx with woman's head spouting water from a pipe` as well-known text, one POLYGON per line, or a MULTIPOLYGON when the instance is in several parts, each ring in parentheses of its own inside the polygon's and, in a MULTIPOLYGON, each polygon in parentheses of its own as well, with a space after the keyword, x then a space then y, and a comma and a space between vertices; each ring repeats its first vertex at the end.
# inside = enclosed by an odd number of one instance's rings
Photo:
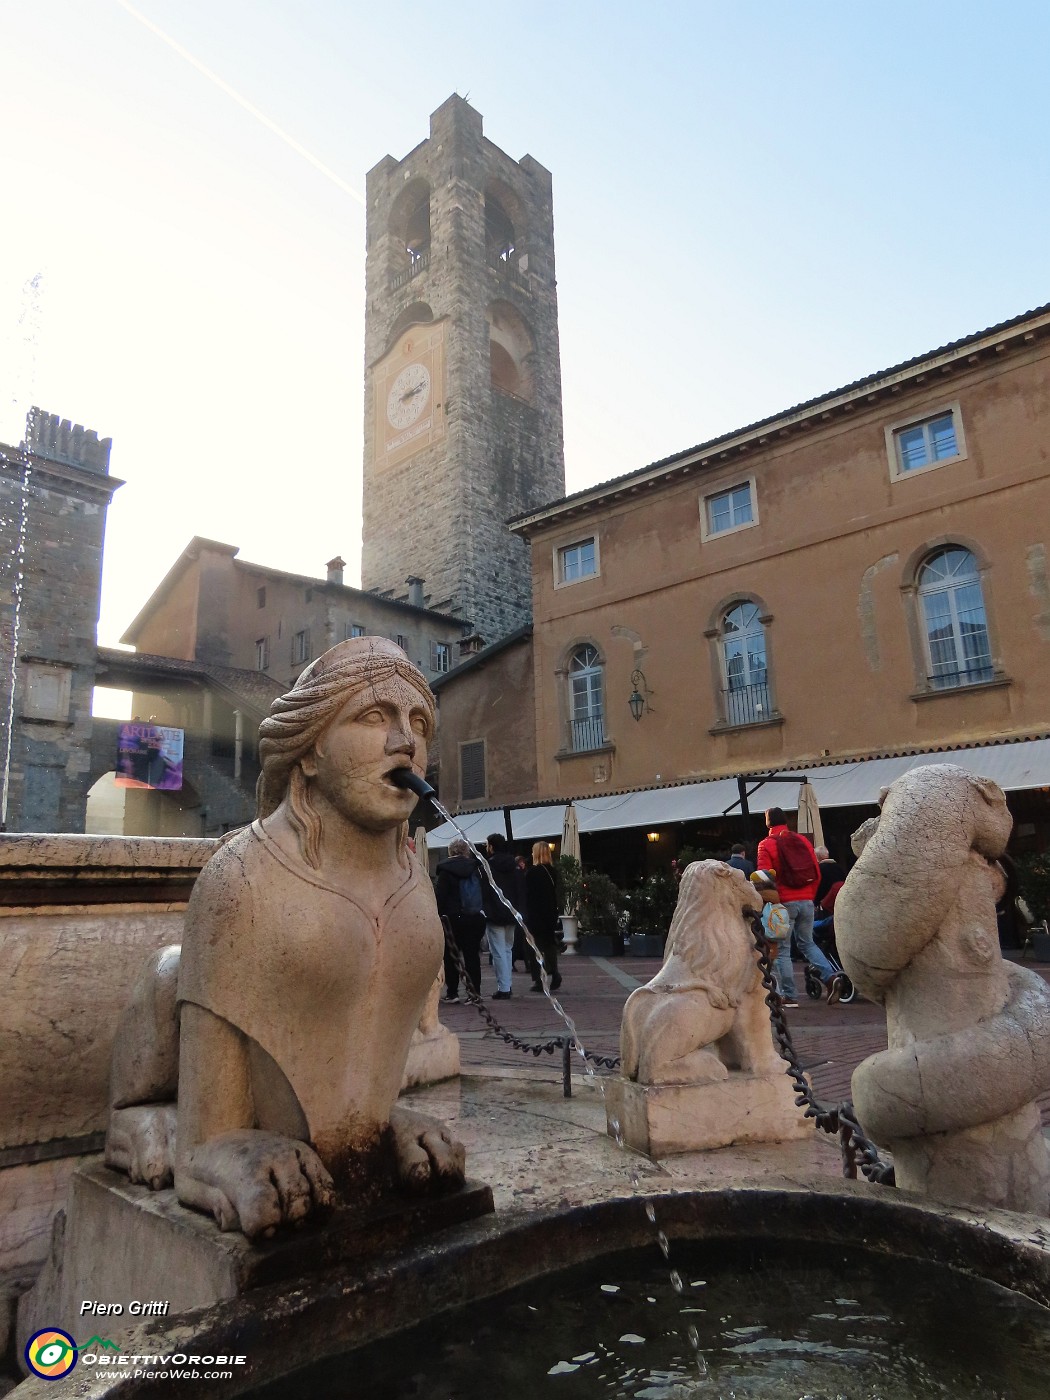
POLYGON ((270 1233, 333 1201, 463 1182, 463 1149, 396 1105, 441 967, 407 844, 434 700, 384 638, 326 651, 260 727, 258 819, 200 874, 185 939, 116 1037, 106 1163, 270 1233))

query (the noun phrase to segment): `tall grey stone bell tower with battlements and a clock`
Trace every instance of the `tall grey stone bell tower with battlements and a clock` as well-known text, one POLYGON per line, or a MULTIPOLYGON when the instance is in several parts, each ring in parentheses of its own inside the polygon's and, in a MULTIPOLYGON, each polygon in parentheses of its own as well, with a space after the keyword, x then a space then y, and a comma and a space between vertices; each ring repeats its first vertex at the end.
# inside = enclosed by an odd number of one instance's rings
POLYGON ((532 616, 504 521, 566 491, 550 172, 451 97, 367 200, 363 582, 497 641, 532 616))

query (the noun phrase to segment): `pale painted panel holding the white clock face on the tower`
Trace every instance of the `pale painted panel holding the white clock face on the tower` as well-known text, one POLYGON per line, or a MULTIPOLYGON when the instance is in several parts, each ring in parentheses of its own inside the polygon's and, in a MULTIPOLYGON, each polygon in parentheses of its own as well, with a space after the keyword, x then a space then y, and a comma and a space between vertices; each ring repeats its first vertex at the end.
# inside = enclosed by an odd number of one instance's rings
POLYGON ((372 452, 396 466, 445 435, 445 325, 405 330, 372 370, 372 452))

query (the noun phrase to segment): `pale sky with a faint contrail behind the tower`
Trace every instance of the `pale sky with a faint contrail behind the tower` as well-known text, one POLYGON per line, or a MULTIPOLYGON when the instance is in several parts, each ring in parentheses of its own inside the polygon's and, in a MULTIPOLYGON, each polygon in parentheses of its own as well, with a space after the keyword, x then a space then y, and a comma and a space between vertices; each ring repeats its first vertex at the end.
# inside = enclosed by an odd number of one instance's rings
POLYGON ((112 435, 104 641, 195 533, 356 580, 360 192, 454 91, 554 176, 568 490, 1050 301, 1042 0, 133 8, 0 0, 0 440, 112 435))

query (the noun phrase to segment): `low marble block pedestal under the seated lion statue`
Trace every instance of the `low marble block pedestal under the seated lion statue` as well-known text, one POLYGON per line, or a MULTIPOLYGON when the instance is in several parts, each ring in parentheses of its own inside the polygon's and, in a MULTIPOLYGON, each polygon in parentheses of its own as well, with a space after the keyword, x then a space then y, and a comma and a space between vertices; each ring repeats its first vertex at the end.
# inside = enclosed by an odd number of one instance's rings
MULTIPOLYGON (((634 1084, 605 1086, 606 1123, 617 1119, 627 1147, 647 1156, 703 1152, 735 1142, 785 1142, 808 1138, 813 1124, 795 1106, 791 1081, 731 1071, 704 1084, 634 1084)), ((615 1137, 612 1127, 609 1134, 615 1137)))

